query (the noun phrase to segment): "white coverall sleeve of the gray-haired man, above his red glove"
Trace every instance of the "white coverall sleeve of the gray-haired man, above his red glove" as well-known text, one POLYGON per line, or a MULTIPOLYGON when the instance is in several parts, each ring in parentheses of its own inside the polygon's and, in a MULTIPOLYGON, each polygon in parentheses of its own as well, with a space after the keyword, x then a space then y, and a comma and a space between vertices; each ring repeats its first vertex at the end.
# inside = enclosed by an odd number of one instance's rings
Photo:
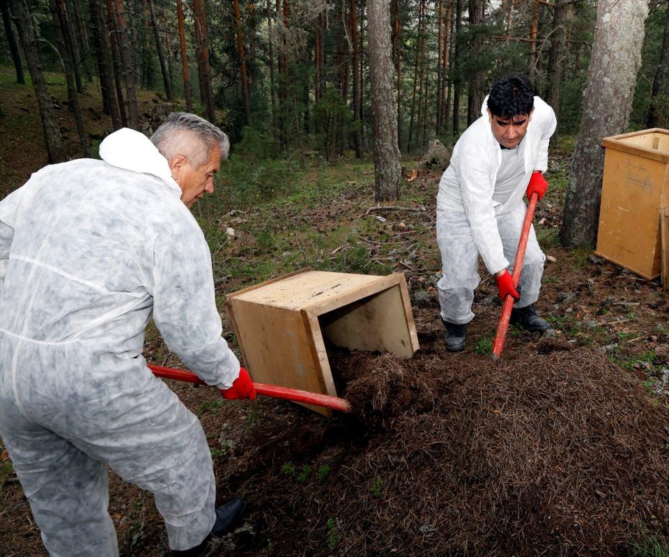
POLYGON ((153 252, 153 321, 169 349, 208 385, 227 389, 239 360, 222 334, 211 254, 202 231, 160 234, 153 252))

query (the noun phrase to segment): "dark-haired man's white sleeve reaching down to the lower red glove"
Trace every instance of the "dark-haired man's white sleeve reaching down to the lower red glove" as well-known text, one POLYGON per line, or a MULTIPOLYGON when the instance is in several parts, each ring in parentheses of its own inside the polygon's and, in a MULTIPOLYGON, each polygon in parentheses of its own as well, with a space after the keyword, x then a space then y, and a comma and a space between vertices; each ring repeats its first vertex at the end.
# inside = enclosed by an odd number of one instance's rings
POLYGON ((504 247, 495 219, 494 185, 480 153, 475 153, 468 146, 459 155, 455 168, 465 215, 477 250, 489 273, 494 274, 509 266, 509 261, 504 257, 504 247))

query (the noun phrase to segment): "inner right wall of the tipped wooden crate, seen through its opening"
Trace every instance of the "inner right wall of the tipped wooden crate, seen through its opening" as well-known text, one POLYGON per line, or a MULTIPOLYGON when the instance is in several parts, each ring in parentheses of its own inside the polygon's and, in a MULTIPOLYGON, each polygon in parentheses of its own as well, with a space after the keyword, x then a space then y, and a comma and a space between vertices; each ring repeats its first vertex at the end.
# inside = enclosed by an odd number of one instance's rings
POLYGON ((323 336, 336 346, 401 358, 411 358, 415 352, 399 284, 321 314, 320 321, 323 336))

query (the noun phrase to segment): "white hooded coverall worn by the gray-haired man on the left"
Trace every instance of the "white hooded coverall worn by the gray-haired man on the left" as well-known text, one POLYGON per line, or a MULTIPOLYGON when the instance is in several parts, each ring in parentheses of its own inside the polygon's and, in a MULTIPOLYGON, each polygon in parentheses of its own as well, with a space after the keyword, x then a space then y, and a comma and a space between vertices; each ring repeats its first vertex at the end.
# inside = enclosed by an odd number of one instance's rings
POLYGON ((199 420, 141 356, 152 310, 206 383, 229 388, 240 365, 167 160, 128 129, 100 156, 0 203, 0 435, 52 556, 118 555, 105 464, 153 492, 169 547, 189 549, 215 521, 213 467, 199 420))

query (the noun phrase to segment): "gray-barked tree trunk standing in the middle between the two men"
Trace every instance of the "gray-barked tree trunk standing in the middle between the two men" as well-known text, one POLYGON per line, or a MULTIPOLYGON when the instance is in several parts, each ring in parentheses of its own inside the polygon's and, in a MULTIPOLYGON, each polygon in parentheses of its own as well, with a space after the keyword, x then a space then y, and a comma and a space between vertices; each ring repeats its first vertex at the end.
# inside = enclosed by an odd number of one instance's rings
POLYGON ((401 169, 392 83, 388 2, 367 0, 367 22, 372 112, 374 112, 374 192, 376 201, 390 201, 399 199, 401 169))

